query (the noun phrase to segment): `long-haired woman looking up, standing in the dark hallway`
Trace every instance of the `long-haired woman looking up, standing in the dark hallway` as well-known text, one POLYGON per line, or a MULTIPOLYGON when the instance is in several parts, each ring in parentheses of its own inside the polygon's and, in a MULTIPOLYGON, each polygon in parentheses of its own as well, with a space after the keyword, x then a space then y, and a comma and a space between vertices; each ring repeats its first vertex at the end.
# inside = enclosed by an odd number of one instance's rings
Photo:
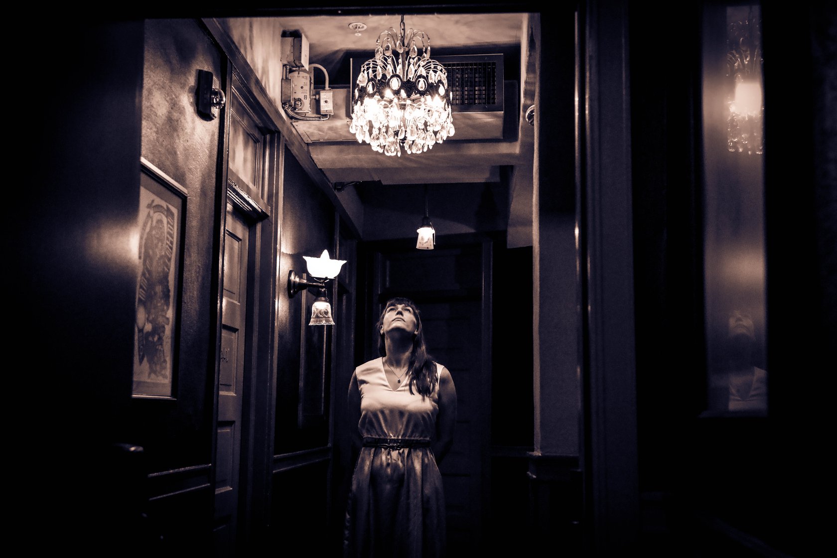
POLYGON ((349 557, 444 555, 438 464, 454 441, 456 390, 424 346, 419 309, 389 299, 376 325, 381 357, 358 366, 349 384, 358 452, 346 512, 349 557))

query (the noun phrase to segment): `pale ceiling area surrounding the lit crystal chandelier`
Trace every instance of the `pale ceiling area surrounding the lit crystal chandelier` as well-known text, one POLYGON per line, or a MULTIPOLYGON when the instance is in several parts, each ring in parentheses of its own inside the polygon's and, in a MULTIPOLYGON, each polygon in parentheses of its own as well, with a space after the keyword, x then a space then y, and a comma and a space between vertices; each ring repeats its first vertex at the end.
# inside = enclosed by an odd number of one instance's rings
MULTIPOLYGON (((496 182, 501 166, 531 165, 533 131, 522 118, 534 101, 531 79, 526 79, 530 64, 526 13, 404 14, 405 29, 420 29, 429 36, 433 58, 513 52, 521 59, 511 64, 520 69, 519 74, 504 76, 516 94, 506 100, 504 110, 512 114, 511 120, 506 120, 511 126, 507 125, 505 132, 503 114, 456 112, 454 136, 432 151, 400 157, 384 156, 367 144, 358 144, 348 131, 347 104, 354 81, 349 59, 371 58, 380 33, 387 28, 398 32, 401 14, 280 16, 276 20, 284 31, 302 33, 308 44, 309 64, 324 67, 331 88, 335 88, 335 115, 330 120, 293 120, 309 145, 311 159, 331 182, 496 182), (357 36, 352 23, 363 23, 367 28, 357 36)), ((317 70, 312 71, 316 88, 322 76, 318 78, 317 70)))

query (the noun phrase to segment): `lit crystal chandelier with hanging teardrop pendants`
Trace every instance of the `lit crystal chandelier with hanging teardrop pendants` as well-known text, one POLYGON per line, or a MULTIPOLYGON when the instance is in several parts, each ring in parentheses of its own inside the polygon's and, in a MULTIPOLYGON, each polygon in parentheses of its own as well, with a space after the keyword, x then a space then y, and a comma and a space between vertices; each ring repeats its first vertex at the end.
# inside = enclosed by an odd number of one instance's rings
POLYGON ((400 33, 388 28, 378 35, 375 58, 361 66, 352 98, 352 123, 358 143, 386 155, 401 150, 421 153, 454 135, 448 98, 448 74, 430 59, 424 31, 400 33), (422 54, 416 42, 421 42, 422 54))

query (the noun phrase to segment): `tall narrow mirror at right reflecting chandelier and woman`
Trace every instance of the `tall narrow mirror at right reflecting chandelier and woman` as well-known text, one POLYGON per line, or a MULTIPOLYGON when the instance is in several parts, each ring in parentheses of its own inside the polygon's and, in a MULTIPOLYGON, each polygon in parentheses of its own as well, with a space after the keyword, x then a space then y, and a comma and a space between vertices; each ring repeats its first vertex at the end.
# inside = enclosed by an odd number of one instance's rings
POLYGON ((768 410, 760 10, 703 21, 707 414, 768 410))

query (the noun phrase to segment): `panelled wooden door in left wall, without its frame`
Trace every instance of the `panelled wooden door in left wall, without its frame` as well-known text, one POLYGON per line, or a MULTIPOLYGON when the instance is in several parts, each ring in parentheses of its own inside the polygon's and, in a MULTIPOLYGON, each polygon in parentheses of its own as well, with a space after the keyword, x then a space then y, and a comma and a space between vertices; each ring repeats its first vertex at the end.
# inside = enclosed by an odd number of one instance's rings
POLYGON ((223 306, 218 364, 218 424, 215 448, 215 549, 234 554, 239 516, 244 375, 247 372, 247 269, 249 228, 238 212, 227 208, 223 247, 223 306))

